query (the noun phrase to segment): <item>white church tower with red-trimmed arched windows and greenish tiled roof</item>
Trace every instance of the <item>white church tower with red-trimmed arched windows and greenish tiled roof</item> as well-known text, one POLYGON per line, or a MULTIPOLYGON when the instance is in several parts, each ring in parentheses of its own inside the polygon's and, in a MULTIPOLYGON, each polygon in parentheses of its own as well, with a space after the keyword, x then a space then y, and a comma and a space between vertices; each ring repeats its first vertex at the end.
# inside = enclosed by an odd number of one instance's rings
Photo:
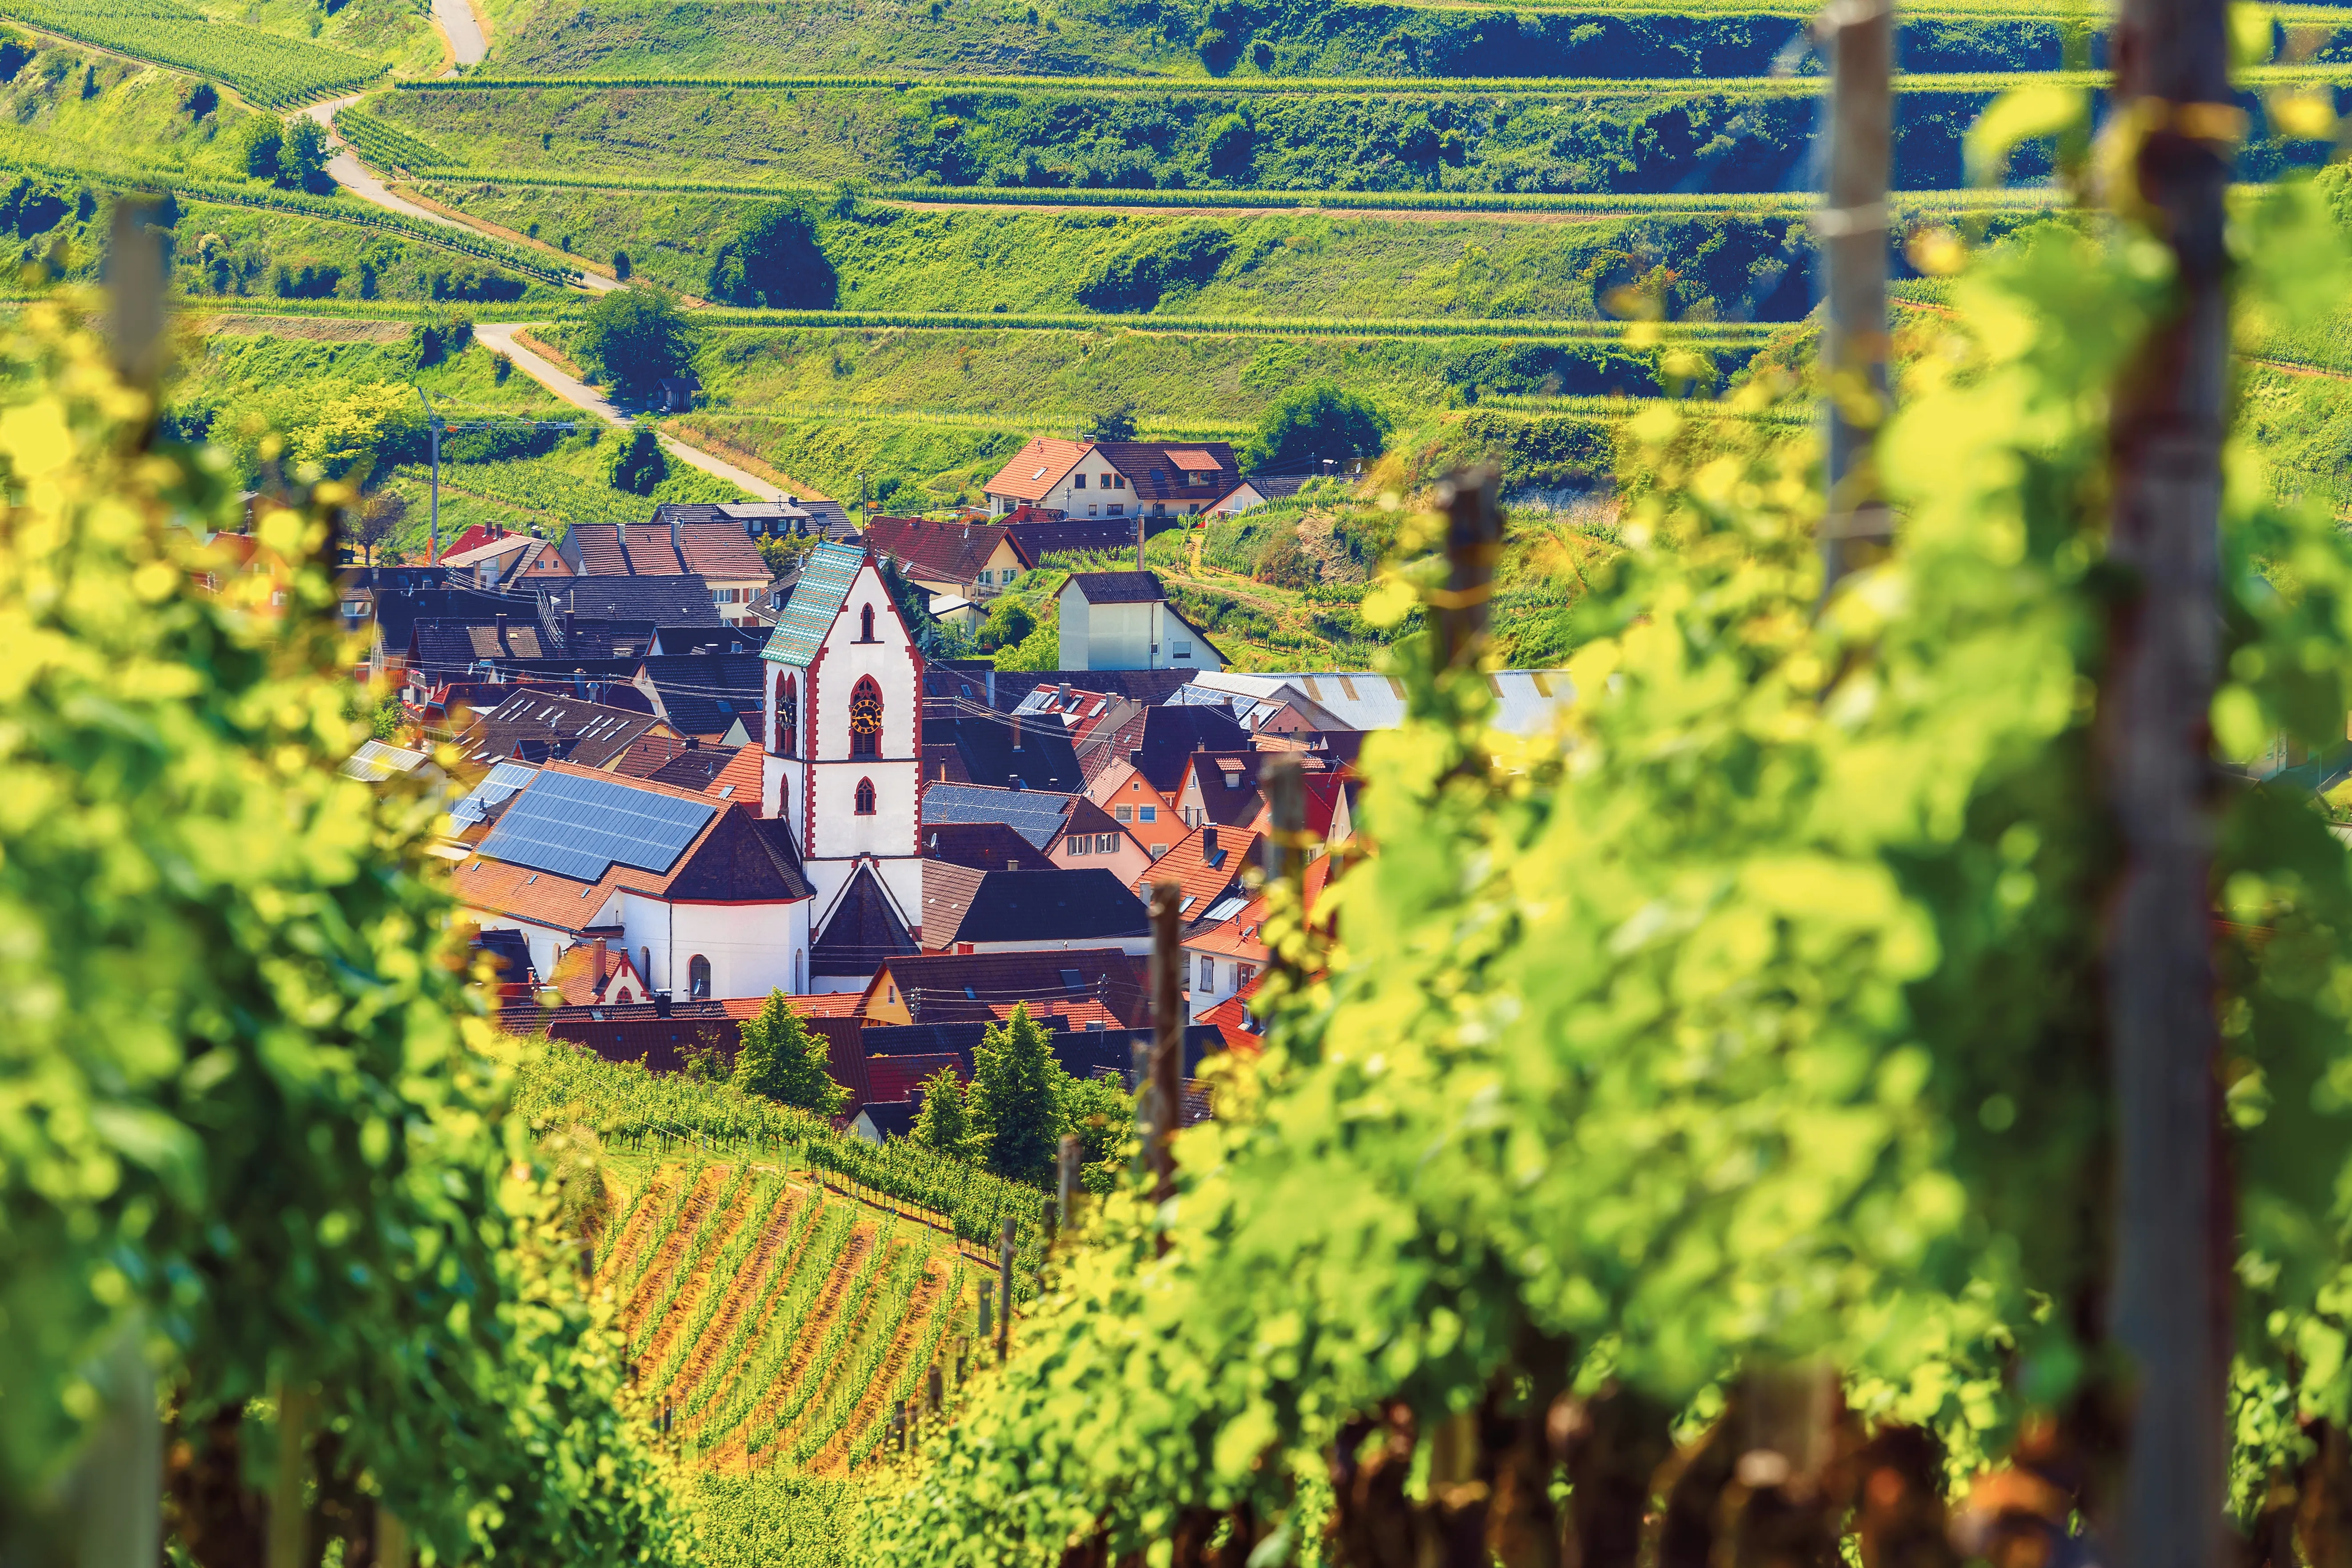
MULTIPOLYGON (((861 884, 858 936, 835 961, 903 943, 922 900, 922 651, 875 559, 858 545, 809 552, 767 649, 762 811, 788 825, 833 933, 861 884), (894 936, 891 936, 894 931, 894 936), (889 936, 889 940, 884 940, 889 936)), ((863 969, 828 971, 863 980, 863 969)))

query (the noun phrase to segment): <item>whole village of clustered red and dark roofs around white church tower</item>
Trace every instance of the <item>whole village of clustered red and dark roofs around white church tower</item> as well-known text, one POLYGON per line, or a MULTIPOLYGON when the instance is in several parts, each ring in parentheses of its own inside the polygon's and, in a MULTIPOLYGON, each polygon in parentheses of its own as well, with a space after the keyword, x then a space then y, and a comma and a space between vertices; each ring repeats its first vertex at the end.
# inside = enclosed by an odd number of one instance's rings
MULTIPOLYGON (((1197 1119, 1202 1058, 1261 1030, 1277 797, 1312 910, 1362 743, 1406 703, 1371 670, 1228 670, 1143 543, 1298 484, 1225 444, 1035 440, 955 520, 809 496, 560 541, 473 529, 346 571, 358 672, 400 696, 400 733, 346 773, 461 792, 440 853, 501 1027, 682 1070, 781 992, 870 1140, 908 1133, 941 1067, 969 1079, 1016 1006, 1073 1077, 1131 1088, 1148 900, 1174 884, 1197 1119), (1049 559, 1120 562, 1063 581, 1061 670, 924 654, 910 597, 978 621, 1049 559)), ((1569 693, 1550 670, 1489 684, 1515 733, 1569 693)))

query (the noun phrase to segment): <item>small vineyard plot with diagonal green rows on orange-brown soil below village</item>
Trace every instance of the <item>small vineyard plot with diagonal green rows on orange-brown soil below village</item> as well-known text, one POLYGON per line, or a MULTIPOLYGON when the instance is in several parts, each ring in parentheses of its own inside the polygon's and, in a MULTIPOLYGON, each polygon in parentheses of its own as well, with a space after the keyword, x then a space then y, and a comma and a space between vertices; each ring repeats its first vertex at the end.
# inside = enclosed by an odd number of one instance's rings
POLYGON ((635 1399, 715 1474, 856 1472, 978 1279, 938 1229, 762 1161, 649 1164, 597 1253, 635 1399))

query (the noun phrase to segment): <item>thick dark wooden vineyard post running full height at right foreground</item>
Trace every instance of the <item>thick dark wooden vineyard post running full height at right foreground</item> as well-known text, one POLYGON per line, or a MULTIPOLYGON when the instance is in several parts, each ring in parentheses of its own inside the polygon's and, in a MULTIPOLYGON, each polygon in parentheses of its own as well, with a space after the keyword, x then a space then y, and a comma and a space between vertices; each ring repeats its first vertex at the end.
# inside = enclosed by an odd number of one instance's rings
POLYGON ((2100 755, 2124 856, 2105 980, 2117 1110, 2112 1333, 2131 1363, 2114 1561, 2223 1556, 2230 1237, 2213 1020, 2220 444, 2230 388, 2223 197, 2246 115, 2223 0, 2124 0, 2112 35, 2112 205, 2173 252, 2171 310, 2114 390, 2107 552, 2124 574, 2100 755))

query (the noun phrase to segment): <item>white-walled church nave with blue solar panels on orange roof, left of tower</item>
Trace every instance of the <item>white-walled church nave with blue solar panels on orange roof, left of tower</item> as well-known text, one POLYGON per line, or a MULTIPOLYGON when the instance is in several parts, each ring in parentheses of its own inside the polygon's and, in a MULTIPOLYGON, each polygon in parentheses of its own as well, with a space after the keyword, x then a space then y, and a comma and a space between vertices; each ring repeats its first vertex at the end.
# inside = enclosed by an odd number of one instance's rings
POLYGON ((522 931, 539 973, 604 936, 656 997, 809 990, 814 898, 793 835, 696 790, 548 762, 452 889, 482 931, 522 931))

